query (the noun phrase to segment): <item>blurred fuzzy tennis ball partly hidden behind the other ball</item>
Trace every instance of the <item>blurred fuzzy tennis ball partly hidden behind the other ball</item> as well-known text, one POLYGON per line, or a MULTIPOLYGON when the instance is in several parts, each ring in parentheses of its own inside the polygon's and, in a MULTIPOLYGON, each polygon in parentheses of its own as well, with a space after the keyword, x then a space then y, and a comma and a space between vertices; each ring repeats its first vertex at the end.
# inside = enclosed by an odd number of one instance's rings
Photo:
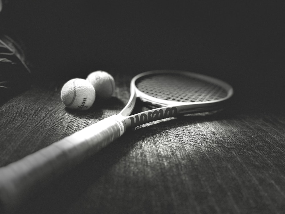
POLYGON ((86 80, 93 85, 98 98, 108 99, 115 90, 115 80, 113 76, 103 70, 91 72, 86 80))

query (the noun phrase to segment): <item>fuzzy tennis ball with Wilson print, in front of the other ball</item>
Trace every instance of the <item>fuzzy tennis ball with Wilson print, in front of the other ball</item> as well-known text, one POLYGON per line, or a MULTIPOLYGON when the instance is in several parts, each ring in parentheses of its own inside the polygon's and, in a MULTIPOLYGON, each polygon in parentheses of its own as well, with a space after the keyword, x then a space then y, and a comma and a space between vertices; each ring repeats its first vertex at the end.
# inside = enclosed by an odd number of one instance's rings
POLYGON ((87 110, 95 100, 95 90, 87 80, 75 78, 64 84, 60 97, 67 108, 87 110))

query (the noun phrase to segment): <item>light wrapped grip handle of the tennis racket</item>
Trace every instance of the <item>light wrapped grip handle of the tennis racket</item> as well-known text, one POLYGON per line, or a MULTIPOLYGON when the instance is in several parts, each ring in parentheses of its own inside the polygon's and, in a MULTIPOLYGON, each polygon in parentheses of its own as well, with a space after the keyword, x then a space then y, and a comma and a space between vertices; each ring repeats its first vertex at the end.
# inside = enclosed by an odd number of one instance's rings
POLYGON ((0 168, 0 213, 13 211, 33 192, 124 132, 117 115, 92 124, 25 158, 0 168))

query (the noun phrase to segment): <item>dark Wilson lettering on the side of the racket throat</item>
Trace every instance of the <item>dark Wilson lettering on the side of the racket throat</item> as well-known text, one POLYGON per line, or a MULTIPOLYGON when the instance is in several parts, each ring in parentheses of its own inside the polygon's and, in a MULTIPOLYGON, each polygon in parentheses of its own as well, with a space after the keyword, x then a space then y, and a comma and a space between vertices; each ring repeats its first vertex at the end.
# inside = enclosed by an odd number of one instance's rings
POLYGON ((134 117, 130 117, 131 126, 139 126, 145 124, 146 122, 151 122, 155 120, 160 120, 168 117, 173 117, 177 114, 177 108, 171 107, 166 109, 159 109, 148 112, 148 114, 140 114, 135 115, 134 117))

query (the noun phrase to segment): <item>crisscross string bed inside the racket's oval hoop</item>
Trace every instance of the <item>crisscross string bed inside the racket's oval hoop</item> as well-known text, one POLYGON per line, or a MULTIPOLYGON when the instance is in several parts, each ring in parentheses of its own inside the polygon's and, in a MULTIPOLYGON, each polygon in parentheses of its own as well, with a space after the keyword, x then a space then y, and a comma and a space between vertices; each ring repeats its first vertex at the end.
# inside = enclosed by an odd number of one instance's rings
POLYGON ((227 96, 219 85, 183 74, 151 74, 136 81, 137 88, 152 97, 176 102, 207 102, 227 96))

